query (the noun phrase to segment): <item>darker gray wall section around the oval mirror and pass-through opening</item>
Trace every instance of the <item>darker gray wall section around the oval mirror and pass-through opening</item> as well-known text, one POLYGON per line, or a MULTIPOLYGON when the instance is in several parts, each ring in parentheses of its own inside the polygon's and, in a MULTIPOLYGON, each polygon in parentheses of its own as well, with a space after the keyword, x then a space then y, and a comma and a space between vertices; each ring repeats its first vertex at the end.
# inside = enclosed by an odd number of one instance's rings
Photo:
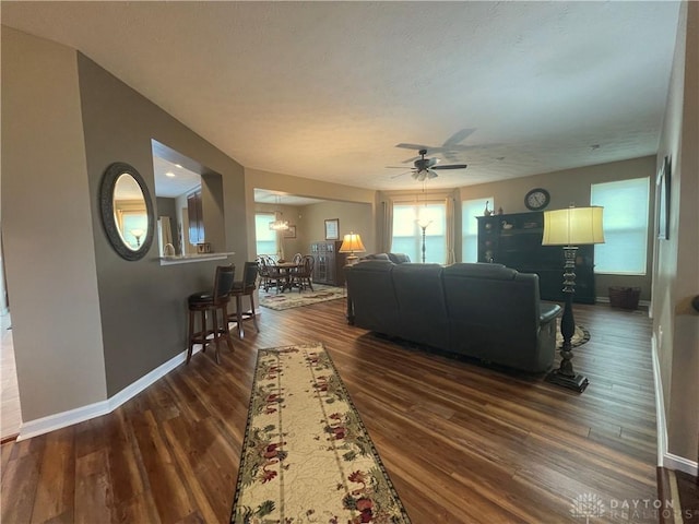
POLYGON ((247 257, 244 174, 236 162, 88 58, 79 53, 78 66, 107 394, 112 396, 186 348, 186 297, 211 287, 220 262, 162 266, 157 242, 143 260, 119 258, 99 219, 102 174, 112 162, 129 163, 154 195, 151 139, 221 174, 223 195, 208 203, 226 203, 225 235, 212 230, 212 239, 217 251, 237 253, 232 260, 240 269, 247 257), (225 246, 218 246, 224 237, 225 246))

